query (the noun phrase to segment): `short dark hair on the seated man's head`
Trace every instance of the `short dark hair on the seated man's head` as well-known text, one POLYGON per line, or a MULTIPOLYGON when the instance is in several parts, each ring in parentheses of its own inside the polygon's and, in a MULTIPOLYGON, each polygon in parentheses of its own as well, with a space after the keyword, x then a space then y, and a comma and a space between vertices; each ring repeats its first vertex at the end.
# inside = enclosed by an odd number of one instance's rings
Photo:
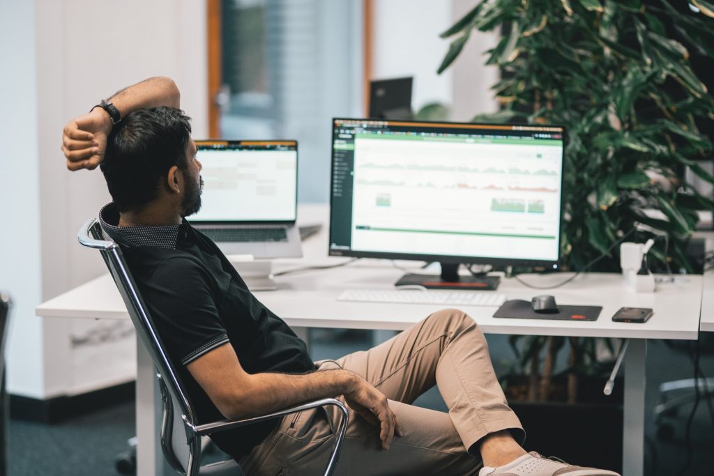
POLYGON ((186 167, 191 118, 159 106, 126 115, 109 134, 101 171, 119 211, 140 211, 159 196, 166 173, 186 167))

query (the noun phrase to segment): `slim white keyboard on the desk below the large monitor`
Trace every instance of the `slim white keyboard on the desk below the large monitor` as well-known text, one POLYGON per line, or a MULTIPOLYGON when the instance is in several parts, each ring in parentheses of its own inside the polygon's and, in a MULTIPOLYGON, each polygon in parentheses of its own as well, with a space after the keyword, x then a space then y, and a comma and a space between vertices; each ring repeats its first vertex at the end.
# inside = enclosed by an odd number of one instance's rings
POLYGON ((358 303, 493 305, 506 302, 506 295, 489 291, 419 289, 346 289, 337 300, 358 303))

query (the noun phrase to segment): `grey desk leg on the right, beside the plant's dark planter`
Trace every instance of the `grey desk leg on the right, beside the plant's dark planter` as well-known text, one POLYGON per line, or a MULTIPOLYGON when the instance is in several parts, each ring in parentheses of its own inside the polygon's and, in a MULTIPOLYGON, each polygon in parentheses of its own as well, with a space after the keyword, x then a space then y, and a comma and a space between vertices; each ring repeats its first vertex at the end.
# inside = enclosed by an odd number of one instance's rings
POLYGON ((647 340, 630 339, 625 354, 623 476, 645 474, 645 360, 647 340))

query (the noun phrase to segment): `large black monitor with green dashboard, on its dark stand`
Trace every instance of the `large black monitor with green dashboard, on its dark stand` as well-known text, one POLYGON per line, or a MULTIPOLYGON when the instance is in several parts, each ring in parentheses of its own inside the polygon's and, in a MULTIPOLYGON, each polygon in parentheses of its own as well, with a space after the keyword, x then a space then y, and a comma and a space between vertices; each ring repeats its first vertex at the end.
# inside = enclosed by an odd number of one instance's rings
POLYGON ((441 262, 398 284, 493 289, 459 263, 558 267, 560 126, 335 118, 329 254, 441 262))

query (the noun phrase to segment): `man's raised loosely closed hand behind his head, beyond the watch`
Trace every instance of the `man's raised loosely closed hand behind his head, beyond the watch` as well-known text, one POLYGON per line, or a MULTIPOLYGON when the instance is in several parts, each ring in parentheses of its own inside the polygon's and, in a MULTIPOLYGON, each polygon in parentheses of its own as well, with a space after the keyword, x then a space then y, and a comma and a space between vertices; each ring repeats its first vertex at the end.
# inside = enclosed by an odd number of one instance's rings
POLYGON ((111 132, 111 118, 102 108, 69 121, 62 131, 62 152, 67 168, 93 170, 104 160, 106 138, 111 132))

